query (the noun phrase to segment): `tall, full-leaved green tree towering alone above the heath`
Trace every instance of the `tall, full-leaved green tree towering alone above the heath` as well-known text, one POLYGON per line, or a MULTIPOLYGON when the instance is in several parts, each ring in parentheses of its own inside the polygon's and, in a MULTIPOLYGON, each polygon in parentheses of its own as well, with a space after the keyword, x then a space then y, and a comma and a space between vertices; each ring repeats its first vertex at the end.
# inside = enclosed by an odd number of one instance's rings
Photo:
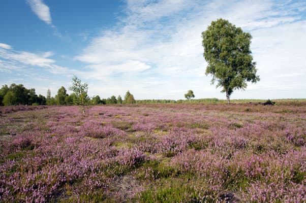
POLYGON ((208 65, 206 76, 212 75, 211 83, 218 82, 217 88, 226 93, 227 103, 235 89, 244 90, 247 82, 256 83, 256 62, 253 62, 250 44, 252 36, 243 32, 228 20, 212 21, 202 32, 204 58, 208 65))

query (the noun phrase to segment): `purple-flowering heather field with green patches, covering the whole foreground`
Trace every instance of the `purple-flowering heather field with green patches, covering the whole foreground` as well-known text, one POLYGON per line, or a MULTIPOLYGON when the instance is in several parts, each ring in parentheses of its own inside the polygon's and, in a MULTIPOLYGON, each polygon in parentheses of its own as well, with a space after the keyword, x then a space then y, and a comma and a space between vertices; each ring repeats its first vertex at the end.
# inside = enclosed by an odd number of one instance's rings
POLYGON ((304 101, 0 110, 0 202, 306 202, 304 101))

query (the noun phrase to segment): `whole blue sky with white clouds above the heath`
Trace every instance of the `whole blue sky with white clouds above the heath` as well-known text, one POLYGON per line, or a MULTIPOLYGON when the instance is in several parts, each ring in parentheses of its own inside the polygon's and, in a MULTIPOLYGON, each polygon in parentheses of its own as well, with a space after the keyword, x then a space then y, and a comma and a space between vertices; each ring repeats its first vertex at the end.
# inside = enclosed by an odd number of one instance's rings
MULTIPOLYGON (((227 19, 253 39, 260 81, 231 98, 306 98, 306 1, 2 0, 0 85, 45 95, 76 75, 107 98, 221 98, 201 33, 227 19)), ((70 93, 70 91, 68 91, 70 93)))

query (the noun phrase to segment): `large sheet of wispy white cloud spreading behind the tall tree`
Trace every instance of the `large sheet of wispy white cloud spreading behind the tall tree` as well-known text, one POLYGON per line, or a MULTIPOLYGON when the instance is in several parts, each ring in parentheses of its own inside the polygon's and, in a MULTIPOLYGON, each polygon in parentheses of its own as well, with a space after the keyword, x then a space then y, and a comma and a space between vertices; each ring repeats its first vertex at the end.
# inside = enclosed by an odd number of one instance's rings
MULTIPOLYGON (((121 24, 102 30, 75 59, 86 63, 84 71, 89 78, 117 85, 114 91, 129 87, 144 98, 145 92, 155 92, 151 94, 153 98, 168 98, 170 94, 181 98, 181 93, 172 90, 194 88, 199 97, 206 97, 207 91, 210 96, 219 96, 212 93, 219 90, 207 88, 210 78, 204 77, 207 63, 201 32, 210 22, 225 18, 251 32, 260 83, 265 83, 273 80, 270 75, 276 70, 285 74, 288 67, 306 69, 301 57, 306 47, 306 21, 302 15, 305 8, 303 1, 128 0, 121 24), (148 80, 162 85, 150 87, 148 80)), ((290 86, 290 80, 274 80, 280 88, 290 86)), ((107 88, 102 87, 108 92, 107 88)))

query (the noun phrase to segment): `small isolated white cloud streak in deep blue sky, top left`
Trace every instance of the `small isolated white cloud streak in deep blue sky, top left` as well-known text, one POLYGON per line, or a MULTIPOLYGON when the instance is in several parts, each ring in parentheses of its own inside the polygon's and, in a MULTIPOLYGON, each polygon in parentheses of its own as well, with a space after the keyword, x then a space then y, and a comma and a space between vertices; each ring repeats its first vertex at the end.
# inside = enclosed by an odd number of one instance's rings
POLYGON ((49 7, 43 3, 42 0, 26 0, 32 11, 47 24, 52 25, 52 19, 49 11, 49 7))

